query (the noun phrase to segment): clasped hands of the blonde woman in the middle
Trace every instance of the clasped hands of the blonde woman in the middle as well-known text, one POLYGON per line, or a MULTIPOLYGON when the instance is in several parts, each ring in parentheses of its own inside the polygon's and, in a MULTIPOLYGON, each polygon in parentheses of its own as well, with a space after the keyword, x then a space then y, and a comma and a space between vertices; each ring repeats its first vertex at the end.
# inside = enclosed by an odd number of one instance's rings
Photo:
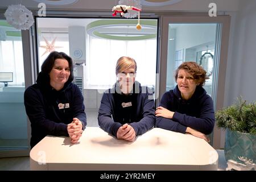
POLYGON ((133 142, 133 140, 136 137, 135 130, 131 125, 128 125, 127 123, 117 130, 117 139, 124 139, 128 142, 133 142))

